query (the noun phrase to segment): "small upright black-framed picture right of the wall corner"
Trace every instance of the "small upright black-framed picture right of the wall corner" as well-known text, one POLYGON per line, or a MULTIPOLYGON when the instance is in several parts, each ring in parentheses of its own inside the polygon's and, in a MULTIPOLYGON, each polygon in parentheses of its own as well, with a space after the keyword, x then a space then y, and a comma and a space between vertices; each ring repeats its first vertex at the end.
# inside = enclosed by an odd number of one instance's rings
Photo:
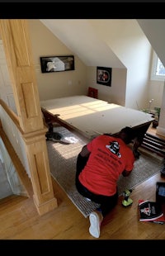
POLYGON ((97 67, 97 83, 111 86, 111 68, 97 67))

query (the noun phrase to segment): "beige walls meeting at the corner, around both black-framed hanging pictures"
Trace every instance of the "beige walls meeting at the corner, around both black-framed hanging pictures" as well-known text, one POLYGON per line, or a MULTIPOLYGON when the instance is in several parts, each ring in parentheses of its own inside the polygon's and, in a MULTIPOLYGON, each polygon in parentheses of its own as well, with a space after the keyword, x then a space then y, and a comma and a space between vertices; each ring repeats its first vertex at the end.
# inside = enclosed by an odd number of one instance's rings
POLYGON ((40 101, 55 97, 87 94, 87 88, 98 89, 102 100, 125 106, 126 69, 112 69, 111 87, 97 84, 97 67, 87 67, 40 20, 29 20, 34 64, 40 101), (74 55, 75 70, 41 73, 40 56, 74 55))

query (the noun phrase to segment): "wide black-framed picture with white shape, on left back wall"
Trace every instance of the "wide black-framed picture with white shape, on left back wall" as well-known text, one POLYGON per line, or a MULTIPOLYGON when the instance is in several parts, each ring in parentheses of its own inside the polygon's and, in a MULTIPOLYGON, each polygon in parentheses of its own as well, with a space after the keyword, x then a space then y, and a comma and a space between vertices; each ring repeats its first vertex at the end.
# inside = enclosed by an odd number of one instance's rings
POLYGON ((40 57, 40 66, 42 73, 74 70, 74 56, 40 57))

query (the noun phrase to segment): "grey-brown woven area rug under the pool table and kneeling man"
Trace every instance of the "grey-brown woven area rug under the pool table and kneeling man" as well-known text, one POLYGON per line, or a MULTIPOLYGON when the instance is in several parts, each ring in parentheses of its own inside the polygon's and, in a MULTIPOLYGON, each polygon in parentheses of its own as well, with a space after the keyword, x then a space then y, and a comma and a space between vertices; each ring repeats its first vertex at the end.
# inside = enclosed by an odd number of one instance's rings
MULTIPOLYGON (((86 143, 62 126, 54 127, 54 132, 62 135, 64 141, 66 138, 68 143, 47 141, 51 175, 64 189, 73 204, 78 207, 78 210, 82 212, 82 215, 87 217, 99 205, 82 197, 74 184, 77 157, 82 146, 86 143)), ((130 176, 120 176, 118 181, 119 194, 121 195, 126 188, 134 189, 139 183, 143 183, 153 174, 158 173, 162 167, 163 164, 157 159, 153 159, 147 154, 141 154, 140 158, 135 161, 134 170, 130 176)))

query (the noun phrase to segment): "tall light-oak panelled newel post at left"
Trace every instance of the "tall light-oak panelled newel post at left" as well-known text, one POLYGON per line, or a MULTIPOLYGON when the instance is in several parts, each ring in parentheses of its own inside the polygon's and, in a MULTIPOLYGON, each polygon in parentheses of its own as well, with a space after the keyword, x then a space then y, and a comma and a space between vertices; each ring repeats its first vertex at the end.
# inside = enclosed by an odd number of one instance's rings
POLYGON ((31 169, 35 206, 43 215, 57 207, 57 200, 50 176, 46 130, 40 109, 28 21, 0 20, 0 33, 31 169))

